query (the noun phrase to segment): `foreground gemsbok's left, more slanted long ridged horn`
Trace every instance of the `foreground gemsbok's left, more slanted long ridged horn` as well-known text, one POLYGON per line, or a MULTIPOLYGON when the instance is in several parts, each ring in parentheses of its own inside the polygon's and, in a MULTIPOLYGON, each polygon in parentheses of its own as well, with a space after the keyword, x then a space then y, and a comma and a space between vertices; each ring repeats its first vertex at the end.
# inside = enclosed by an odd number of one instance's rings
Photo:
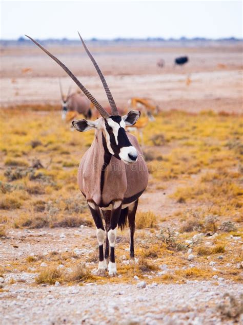
POLYGON ((100 103, 90 94, 88 89, 85 88, 85 86, 74 76, 74 74, 69 70, 69 68, 66 67, 60 60, 58 60, 56 57, 54 57, 48 50, 46 50, 42 45, 40 45, 38 42, 33 40, 31 37, 26 35, 32 42, 34 42, 40 49, 42 49, 49 57, 51 57, 59 66, 61 66, 64 71, 72 78, 72 80, 76 83, 76 85, 82 90, 82 92, 85 94, 86 97, 91 101, 91 103, 94 104, 96 109, 99 111, 100 115, 104 118, 109 118, 110 115, 107 113, 107 111, 100 105, 100 103))

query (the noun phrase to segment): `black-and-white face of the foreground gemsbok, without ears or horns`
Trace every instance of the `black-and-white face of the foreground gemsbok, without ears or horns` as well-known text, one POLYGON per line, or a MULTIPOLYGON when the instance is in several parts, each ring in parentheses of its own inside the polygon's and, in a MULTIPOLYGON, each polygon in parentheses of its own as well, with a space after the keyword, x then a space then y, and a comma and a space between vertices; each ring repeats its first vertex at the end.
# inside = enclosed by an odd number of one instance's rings
POLYGON ((124 163, 135 163, 137 151, 131 145, 126 131, 126 120, 121 116, 111 116, 105 119, 105 137, 107 148, 117 159, 124 163))

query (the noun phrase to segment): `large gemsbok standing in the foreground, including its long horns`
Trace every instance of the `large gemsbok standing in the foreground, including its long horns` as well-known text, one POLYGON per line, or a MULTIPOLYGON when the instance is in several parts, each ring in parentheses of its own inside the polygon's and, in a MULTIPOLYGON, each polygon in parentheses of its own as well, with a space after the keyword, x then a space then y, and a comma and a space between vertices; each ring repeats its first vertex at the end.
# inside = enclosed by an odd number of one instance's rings
MULTIPOLYGON (((79 34, 80 37, 80 34, 79 34)), ((148 185, 148 169, 136 138, 125 131, 126 125, 133 125, 139 118, 138 111, 120 116, 106 80, 83 39, 80 40, 94 64, 105 88, 112 114, 89 93, 73 73, 42 45, 30 38, 39 48, 57 62, 73 79, 102 117, 95 121, 85 119, 73 121, 80 132, 95 129, 91 147, 84 154, 78 168, 78 185, 86 197, 96 225, 99 245, 98 275, 105 275, 107 260, 109 276, 116 275, 115 241, 117 227, 123 228, 128 219, 130 228, 130 258, 134 258, 135 214, 138 198, 148 185), (103 225, 103 218, 105 227, 103 225), (105 231, 106 229, 106 231, 105 231), (105 256, 103 245, 106 239, 105 256), (109 254, 110 253, 110 254, 109 254)))

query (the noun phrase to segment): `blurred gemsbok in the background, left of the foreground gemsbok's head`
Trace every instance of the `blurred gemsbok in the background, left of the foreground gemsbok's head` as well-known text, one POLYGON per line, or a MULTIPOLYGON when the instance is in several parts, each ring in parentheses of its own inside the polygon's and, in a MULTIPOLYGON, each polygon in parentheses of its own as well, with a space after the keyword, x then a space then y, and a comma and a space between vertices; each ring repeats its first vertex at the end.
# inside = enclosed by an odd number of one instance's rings
POLYGON ((71 93, 71 87, 68 89, 68 95, 65 97, 63 87, 59 80, 60 95, 62 98, 62 119, 71 121, 78 114, 83 114, 85 118, 91 118, 90 100, 80 93, 71 93))

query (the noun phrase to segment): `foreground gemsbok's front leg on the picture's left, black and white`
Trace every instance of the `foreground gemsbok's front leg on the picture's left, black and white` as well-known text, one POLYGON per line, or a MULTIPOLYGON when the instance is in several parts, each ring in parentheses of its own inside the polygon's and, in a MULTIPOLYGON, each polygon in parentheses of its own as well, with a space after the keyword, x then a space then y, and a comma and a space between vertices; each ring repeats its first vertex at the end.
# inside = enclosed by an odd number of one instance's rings
POLYGON ((103 226, 102 216, 100 215, 99 207, 94 202, 88 202, 91 214, 96 225, 96 236, 99 244, 99 265, 97 269, 97 275, 105 276, 107 270, 107 263, 104 259, 104 241, 106 238, 106 232, 103 226))

